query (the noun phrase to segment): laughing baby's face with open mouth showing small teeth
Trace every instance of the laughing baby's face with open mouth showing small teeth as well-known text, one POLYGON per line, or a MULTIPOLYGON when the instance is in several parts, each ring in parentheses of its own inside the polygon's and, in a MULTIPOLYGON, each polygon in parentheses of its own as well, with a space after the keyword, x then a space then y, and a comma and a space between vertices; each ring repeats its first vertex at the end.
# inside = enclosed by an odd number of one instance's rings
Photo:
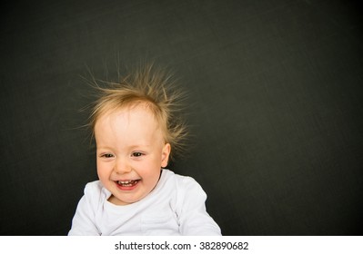
POLYGON ((96 122, 95 137, 97 174, 112 193, 109 201, 127 205, 145 198, 170 153, 153 114, 142 104, 106 113, 96 122))

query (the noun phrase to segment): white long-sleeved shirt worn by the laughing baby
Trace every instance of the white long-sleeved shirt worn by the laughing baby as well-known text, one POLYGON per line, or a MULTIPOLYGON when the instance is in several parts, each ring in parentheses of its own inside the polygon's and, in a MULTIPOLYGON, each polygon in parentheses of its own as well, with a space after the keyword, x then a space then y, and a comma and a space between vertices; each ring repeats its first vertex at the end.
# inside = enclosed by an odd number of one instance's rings
POLYGON ((100 181, 86 184, 68 235, 220 235, 194 179, 163 170, 156 188, 126 206, 108 202, 100 181))

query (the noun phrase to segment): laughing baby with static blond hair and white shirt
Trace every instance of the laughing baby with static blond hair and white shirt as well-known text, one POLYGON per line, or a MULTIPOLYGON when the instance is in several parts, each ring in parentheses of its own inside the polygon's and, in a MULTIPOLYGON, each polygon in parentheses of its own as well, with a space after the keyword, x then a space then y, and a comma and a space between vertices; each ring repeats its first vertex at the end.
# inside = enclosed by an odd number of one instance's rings
POLYGON ((99 181, 86 184, 68 235, 221 234, 197 181, 165 169, 187 134, 168 81, 149 67, 99 88, 90 121, 99 181))

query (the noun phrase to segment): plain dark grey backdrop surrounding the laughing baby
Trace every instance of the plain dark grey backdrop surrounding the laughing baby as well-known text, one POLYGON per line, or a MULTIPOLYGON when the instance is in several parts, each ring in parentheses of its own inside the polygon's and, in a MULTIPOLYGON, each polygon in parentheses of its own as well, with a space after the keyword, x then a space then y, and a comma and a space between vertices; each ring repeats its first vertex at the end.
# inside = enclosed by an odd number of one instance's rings
POLYGON ((190 93, 194 146, 171 169, 200 182, 225 235, 362 234, 356 2, 1 5, 2 235, 67 233, 96 180, 80 76, 140 60, 190 93))

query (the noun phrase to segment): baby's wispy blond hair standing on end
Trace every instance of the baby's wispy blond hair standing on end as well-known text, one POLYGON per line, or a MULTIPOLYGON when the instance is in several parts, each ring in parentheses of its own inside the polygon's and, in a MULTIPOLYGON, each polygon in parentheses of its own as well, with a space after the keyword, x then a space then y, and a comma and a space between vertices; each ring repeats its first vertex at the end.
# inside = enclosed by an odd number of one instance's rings
POLYGON ((142 104, 154 114, 165 142, 170 143, 170 158, 186 151, 187 123, 182 117, 186 93, 176 88, 173 76, 149 64, 118 79, 118 82, 93 79, 98 93, 88 122, 92 138, 97 120, 106 112, 142 104))

